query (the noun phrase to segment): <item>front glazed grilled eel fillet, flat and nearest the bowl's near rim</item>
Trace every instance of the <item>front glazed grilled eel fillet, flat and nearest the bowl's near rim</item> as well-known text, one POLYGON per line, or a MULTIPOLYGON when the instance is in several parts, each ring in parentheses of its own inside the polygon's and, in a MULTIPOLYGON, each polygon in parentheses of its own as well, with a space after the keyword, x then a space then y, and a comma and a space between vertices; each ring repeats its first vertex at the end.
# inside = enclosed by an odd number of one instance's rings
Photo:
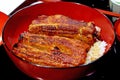
POLYGON ((73 67, 84 64, 89 48, 80 40, 24 32, 13 52, 41 66, 73 67))

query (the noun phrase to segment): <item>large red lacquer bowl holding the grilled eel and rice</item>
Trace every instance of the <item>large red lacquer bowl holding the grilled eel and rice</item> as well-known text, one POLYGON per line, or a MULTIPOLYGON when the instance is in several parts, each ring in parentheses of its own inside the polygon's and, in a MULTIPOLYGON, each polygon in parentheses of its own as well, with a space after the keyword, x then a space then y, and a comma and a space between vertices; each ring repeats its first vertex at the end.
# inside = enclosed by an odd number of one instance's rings
POLYGON ((14 64, 25 74, 40 80, 75 80, 94 70, 94 62, 72 68, 40 67, 28 63, 13 55, 13 45, 19 35, 28 29, 31 21, 39 15, 62 14, 76 20, 93 21, 101 28, 101 38, 108 43, 106 52, 114 42, 113 25, 107 17, 88 6, 72 2, 40 3, 25 7, 13 14, 3 30, 3 45, 14 64))

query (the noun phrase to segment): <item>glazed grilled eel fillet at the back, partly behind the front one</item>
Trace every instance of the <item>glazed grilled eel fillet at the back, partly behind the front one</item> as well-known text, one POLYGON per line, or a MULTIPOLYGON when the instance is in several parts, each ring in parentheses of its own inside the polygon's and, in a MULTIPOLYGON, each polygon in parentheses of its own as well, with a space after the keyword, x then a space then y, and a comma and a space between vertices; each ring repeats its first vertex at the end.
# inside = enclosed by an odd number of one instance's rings
POLYGON ((64 15, 39 16, 28 31, 35 34, 57 35, 82 40, 89 45, 95 42, 95 26, 91 22, 73 20, 64 15))

